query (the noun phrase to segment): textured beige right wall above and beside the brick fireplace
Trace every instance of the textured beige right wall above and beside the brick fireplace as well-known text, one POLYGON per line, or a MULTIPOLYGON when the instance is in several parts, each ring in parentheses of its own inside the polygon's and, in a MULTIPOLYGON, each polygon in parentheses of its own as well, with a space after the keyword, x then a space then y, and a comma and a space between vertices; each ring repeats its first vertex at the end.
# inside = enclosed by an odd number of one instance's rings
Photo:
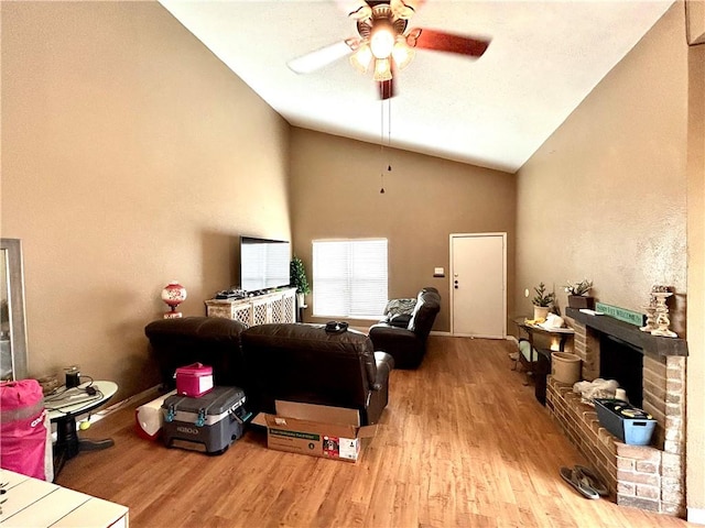
POLYGON ((641 310, 668 284, 681 336, 687 293, 690 508, 705 506, 704 57, 677 2, 518 173, 518 293, 544 280, 565 306, 558 288, 586 276, 599 300, 641 310))

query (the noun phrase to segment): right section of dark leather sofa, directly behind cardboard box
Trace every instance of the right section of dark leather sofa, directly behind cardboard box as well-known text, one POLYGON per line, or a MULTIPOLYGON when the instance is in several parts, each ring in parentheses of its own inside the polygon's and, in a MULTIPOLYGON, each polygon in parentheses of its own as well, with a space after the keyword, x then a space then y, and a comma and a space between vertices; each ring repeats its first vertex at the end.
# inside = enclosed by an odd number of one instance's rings
POLYGON ((259 324, 240 334, 249 376, 248 399, 274 413, 274 400, 346 407, 361 425, 377 424, 389 400, 394 360, 375 352, 370 339, 321 324, 259 324))

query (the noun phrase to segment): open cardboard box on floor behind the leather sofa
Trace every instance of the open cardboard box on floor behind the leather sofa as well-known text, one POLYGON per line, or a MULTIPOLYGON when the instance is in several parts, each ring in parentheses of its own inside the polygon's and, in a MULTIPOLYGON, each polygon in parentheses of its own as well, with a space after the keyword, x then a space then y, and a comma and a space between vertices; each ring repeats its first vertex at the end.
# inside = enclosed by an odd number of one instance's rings
POLYGON ((362 439, 377 433, 377 426, 360 427, 357 409, 280 400, 275 408, 252 422, 267 427, 267 446, 278 451, 357 462, 362 439))

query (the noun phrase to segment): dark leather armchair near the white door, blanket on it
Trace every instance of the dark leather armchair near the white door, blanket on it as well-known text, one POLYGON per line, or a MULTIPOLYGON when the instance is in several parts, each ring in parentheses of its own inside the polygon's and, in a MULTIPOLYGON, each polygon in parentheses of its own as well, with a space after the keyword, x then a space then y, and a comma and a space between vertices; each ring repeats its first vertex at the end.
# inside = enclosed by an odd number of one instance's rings
POLYGON ((426 353, 426 341, 440 310, 438 290, 423 288, 416 296, 416 305, 405 327, 403 314, 388 316, 384 321, 370 327, 369 337, 375 350, 391 354, 398 369, 416 369, 426 353))

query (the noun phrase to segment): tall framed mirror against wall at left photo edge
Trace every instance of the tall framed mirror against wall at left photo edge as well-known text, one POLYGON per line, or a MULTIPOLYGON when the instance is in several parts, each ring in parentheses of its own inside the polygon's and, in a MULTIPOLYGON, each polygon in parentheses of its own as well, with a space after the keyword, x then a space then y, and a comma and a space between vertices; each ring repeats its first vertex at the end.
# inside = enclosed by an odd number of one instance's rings
POLYGON ((0 239, 0 378, 28 377, 22 241, 0 239))

